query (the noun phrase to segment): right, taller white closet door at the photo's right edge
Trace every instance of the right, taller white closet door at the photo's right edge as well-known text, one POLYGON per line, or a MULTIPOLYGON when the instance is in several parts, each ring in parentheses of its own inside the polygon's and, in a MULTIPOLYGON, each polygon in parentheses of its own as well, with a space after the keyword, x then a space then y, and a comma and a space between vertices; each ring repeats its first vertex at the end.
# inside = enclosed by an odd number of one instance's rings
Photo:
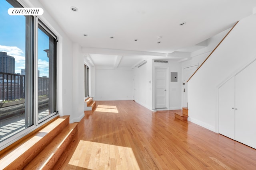
POLYGON ((235 76, 235 140, 256 149, 256 62, 235 76))

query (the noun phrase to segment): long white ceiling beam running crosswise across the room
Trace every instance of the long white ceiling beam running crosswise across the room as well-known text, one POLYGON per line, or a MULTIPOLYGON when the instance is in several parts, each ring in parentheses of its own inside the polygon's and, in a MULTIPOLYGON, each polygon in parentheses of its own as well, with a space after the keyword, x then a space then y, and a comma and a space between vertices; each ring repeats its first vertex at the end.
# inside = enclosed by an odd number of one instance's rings
POLYGON ((104 54, 104 55, 148 55, 148 56, 166 57, 166 53, 156 53, 156 52, 149 52, 149 51, 130 51, 130 50, 119 50, 119 49, 104 49, 104 48, 93 48, 93 47, 82 47, 82 53, 104 54))

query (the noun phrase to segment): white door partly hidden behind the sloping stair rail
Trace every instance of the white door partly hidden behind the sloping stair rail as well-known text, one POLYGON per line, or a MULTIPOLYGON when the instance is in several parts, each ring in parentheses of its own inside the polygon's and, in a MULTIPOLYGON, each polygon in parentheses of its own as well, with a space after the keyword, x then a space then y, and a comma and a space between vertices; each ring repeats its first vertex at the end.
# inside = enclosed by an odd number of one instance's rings
POLYGON ((182 107, 188 107, 188 84, 186 81, 194 74, 196 71, 197 66, 190 66, 183 68, 183 102, 182 102, 182 107))

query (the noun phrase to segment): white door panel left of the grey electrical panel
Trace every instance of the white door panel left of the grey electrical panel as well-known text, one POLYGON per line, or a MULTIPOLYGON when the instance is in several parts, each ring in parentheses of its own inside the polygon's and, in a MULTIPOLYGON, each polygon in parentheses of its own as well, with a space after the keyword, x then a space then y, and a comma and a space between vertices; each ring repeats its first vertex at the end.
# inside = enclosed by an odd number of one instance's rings
POLYGON ((156 68, 155 70, 156 82, 155 82, 155 92, 156 109, 167 109, 168 107, 168 88, 167 88, 167 68, 156 68))

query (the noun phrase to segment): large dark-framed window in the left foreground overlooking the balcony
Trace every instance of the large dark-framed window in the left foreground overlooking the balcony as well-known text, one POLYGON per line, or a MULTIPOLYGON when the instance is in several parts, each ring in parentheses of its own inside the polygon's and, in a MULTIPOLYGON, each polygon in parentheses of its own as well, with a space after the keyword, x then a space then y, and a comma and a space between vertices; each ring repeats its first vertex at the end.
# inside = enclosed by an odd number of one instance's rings
POLYGON ((22 7, 0 2, 0 149, 56 115, 57 37, 36 16, 9 16, 22 7))

